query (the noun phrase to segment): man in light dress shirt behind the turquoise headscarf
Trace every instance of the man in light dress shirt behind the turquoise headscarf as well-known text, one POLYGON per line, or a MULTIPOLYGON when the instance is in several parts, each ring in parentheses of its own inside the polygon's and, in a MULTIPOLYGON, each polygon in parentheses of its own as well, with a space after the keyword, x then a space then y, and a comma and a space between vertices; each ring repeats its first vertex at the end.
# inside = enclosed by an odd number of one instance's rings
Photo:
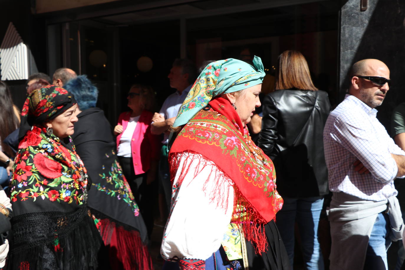
POLYGON ((170 80, 170 87, 175 88, 176 91, 166 98, 159 113, 153 115, 151 133, 155 135, 164 134, 162 155, 159 162, 159 193, 164 193, 168 214, 172 194, 167 160, 169 128, 173 125, 180 106, 183 104, 185 97, 196 79, 196 67, 193 62, 188 59, 176 59, 167 77, 170 80))

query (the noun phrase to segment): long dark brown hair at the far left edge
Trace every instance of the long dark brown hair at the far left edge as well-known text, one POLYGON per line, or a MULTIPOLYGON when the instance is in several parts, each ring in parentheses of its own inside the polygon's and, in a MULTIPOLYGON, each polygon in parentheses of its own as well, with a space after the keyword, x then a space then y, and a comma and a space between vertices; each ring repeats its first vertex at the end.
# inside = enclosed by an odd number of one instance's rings
POLYGON ((3 140, 9 136, 11 132, 16 130, 20 123, 14 113, 13 99, 9 87, 0 81, 0 140, 3 152, 13 157, 14 153, 10 147, 3 143, 3 140))

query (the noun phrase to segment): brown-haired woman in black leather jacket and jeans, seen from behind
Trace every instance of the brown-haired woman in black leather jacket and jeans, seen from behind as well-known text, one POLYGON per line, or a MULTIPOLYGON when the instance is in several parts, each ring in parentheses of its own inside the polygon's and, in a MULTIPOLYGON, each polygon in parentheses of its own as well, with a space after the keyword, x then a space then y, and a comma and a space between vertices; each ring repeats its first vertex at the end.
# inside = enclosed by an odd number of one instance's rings
POLYGON ((279 56, 276 91, 263 101, 261 147, 274 162, 277 190, 284 199, 276 224, 294 261, 297 221, 305 269, 324 269, 318 223, 328 193, 322 133, 330 111, 328 94, 312 83, 304 56, 284 51, 279 56))

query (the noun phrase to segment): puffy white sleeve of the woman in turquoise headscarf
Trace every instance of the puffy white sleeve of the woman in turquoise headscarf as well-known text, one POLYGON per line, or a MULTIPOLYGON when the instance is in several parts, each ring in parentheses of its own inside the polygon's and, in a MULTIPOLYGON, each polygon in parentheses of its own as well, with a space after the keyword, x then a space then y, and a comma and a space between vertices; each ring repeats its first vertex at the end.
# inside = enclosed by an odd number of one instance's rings
POLYGON ((220 248, 231 221, 233 181, 200 154, 182 153, 177 158, 171 214, 160 252, 166 259, 206 260, 220 248))

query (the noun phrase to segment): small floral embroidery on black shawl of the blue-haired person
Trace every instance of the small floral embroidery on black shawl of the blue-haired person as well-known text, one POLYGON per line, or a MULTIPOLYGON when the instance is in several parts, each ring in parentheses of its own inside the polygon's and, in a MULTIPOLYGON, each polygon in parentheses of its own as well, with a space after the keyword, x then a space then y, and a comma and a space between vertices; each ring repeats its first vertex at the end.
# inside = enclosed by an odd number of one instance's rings
MULTIPOLYGON (((112 151, 112 154, 115 155, 114 151, 112 151)), ((108 154, 106 154, 106 156, 108 157, 108 154)), ((106 168, 103 166, 102 170, 104 171, 106 168)), ((138 217, 138 204, 135 202, 135 198, 132 195, 129 184, 122 173, 122 168, 119 163, 115 160, 115 162, 111 164, 111 168, 109 170, 98 175, 100 178, 105 180, 106 184, 102 185, 101 183, 92 183, 92 185, 95 186, 98 191, 105 192, 107 195, 117 198, 117 200, 123 200, 126 202, 128 206, 132 208, 134 216, 138 217)))

